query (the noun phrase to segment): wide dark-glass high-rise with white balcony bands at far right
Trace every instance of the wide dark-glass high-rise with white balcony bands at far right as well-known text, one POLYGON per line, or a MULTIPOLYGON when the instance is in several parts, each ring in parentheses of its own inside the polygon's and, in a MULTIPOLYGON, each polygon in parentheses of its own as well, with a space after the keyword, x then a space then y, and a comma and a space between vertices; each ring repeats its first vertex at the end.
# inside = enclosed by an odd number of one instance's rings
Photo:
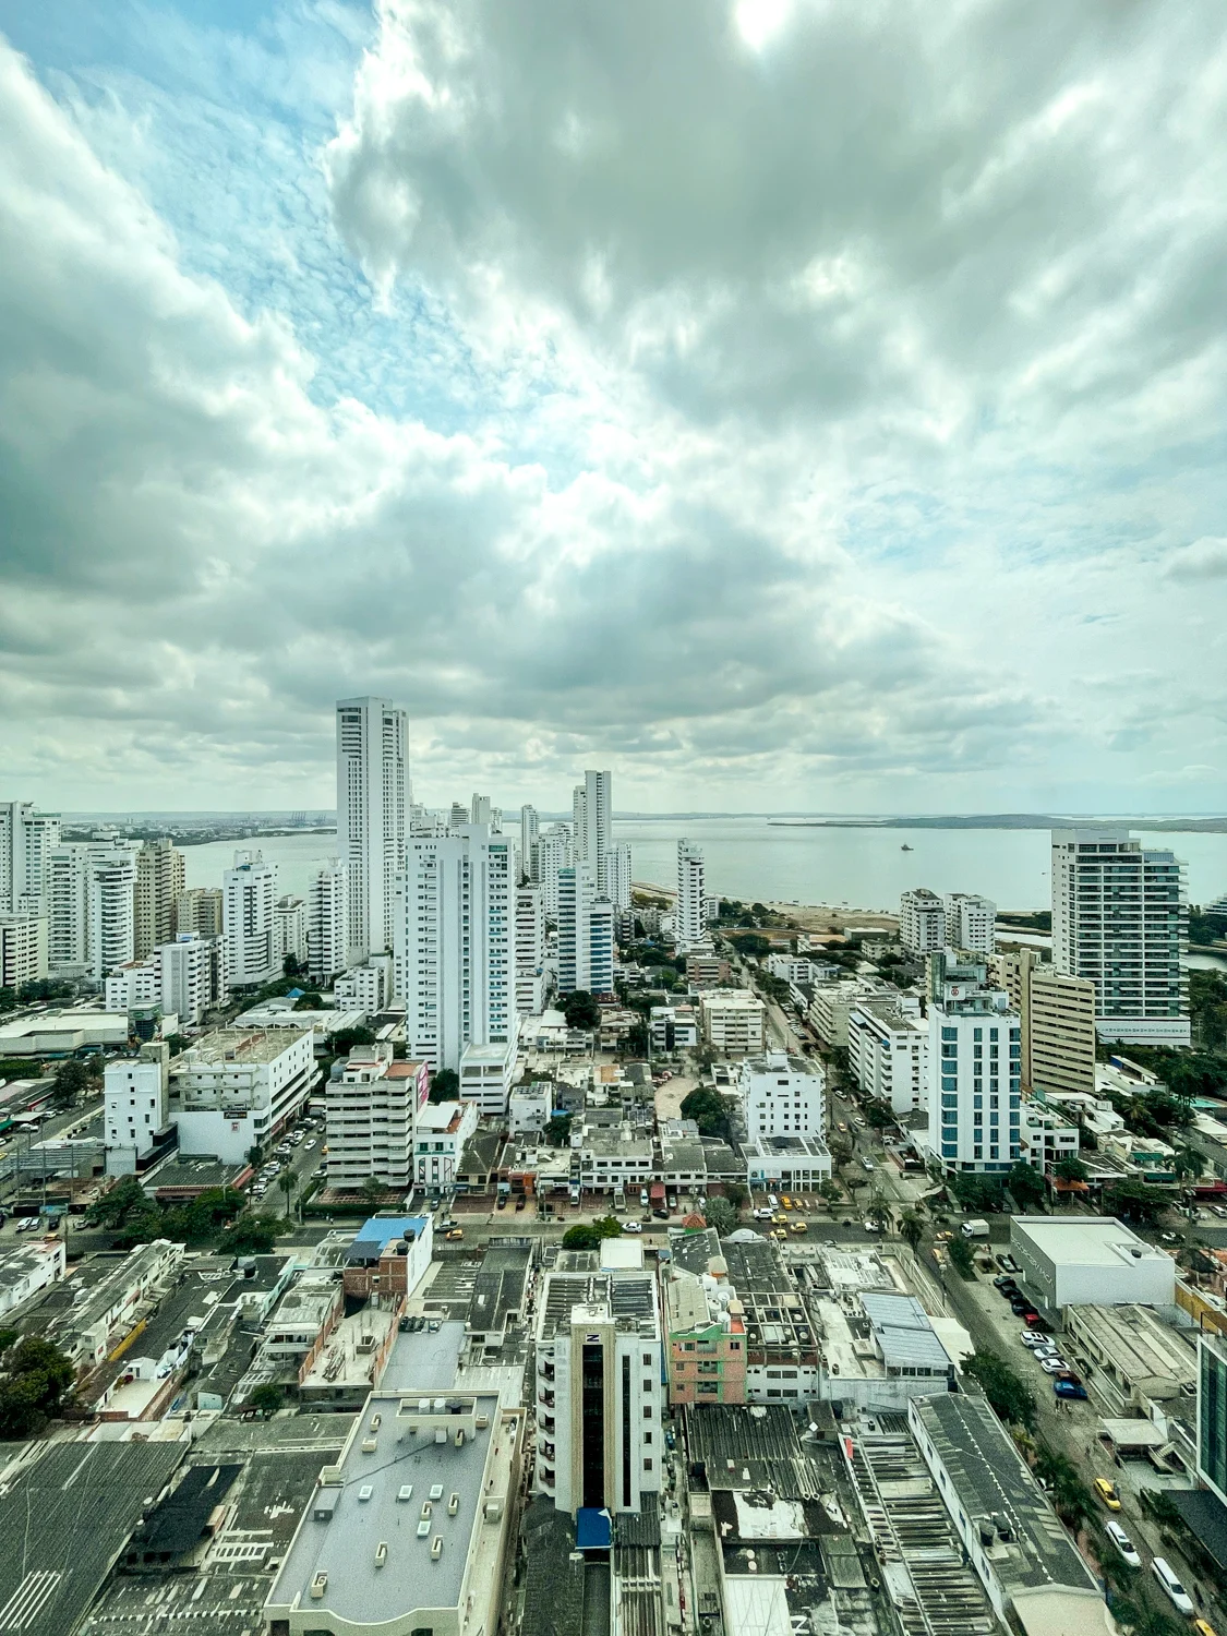
POLYGON ((1188 1045, 1188 895, 1168 847, 1127 829, 1052 831, 1052 964, 1094 983, 1099 1039, 1188 1045))

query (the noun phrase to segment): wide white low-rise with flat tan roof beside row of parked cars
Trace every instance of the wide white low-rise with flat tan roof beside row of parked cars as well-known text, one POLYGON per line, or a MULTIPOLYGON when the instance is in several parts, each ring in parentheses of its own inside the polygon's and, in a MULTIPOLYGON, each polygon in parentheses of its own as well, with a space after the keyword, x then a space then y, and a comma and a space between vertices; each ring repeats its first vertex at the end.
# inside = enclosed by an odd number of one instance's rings
POLYGON ((182 1153, 237 1163, 298 1117, 319 1078, 311 1029, 218 1029, 170 1063, 182 1153))

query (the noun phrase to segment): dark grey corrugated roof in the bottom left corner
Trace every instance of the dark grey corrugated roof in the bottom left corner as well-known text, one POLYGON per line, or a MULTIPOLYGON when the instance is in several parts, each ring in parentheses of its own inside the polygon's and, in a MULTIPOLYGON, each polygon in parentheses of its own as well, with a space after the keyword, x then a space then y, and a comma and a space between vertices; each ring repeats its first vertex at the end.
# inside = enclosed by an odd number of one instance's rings
POLYGON ((146 1499, 162 1492, 187 1449, 177 1441, 31 1445, 33 1458, 0 1492, 0 1608, 10 1629, 77 1629, 146 1499))

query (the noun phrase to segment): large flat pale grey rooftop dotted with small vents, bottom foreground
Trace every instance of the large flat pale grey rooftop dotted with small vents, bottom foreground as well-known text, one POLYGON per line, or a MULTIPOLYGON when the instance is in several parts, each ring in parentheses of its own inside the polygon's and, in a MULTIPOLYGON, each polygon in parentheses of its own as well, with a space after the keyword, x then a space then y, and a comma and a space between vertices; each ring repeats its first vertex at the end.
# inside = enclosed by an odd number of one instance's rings
POLYGON ((270 1605, 317 1610, 322 1621, 335 1615, 355 1628, 391 1623, 417 1607, 455 1608, 488 1458, 497 1446, 510 1466, 509 1443, 497 1397, 427 1397, 424 1412, 417 1397, 373 1392, 329 1482, 312 1495, 270 1605), (465 1432, 460 1441, 448 1435, 452 1418, 465 1432), (435 1441, 440 1422, 445 1436, 435 1441), (424 1535, 419 1518, 429 1521, 424 1535), (376 1559, 381 1543, 388 1571, 376 1559), (322 1595, 312 1598, 321 1574, 322 1595))

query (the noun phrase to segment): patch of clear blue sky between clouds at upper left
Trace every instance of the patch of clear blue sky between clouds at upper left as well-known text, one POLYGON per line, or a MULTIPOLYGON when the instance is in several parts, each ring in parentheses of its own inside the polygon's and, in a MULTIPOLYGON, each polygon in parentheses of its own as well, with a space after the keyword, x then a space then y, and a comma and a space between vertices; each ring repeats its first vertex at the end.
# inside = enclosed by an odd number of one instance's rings
POLYGON ((355 398, 443 434, 504 419, 509 391, 524 409, 525 380, 479 368, 429 291, 401 281, 376 301, 334 229, 321 151, 375 33, 368 7, 0 0, 0 26, 167 222, 183 268, 249 317, 285 314, 314 358, 319 402, 355 398))

